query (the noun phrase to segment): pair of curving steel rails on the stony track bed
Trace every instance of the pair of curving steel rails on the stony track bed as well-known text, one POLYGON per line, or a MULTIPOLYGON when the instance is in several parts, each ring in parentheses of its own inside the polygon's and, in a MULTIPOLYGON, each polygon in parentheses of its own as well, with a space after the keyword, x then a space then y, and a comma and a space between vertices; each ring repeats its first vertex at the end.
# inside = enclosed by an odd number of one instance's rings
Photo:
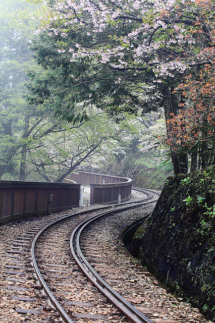
MULTIPOLYGON (((139 189, 136 189, 136 190, 139 190, 139 189)), ((93 268, 90 266, 88 261, 84 258, 83 254, 81 252, 78 240, 76 242, 74 242, 75 236, 77 237, 77 239, 79 239, 79 237, 80 237, 80 234, 81 234, 80 229, 84 229, 92 221, 94 221, 100 217, 106 216, 110 213, 119 212, 119 209, 126 210, 129 208, 133 208, 133 207, 137 207, 140 205, 150 203, 151 201, 148 202, 148 200, 152 199, 152 197, 153 197, 152 194, 148 190, 140 189, 139 191, 144 193, 146 195, 146 198, 144 198, 142 200, 138 200, 138 201, 131 201, 131 202, 124 202, 124 203, 120 203, 120 204, 115 204, 114 206, 117 208, 115 208, 114 210, 112 209, 110 211, 100 212, 100 214, 96 214, 96 216, 92 217, 89 221, 88 220, 84 221, 80 225, 78 225, 78 227, 74 230, 74 232, 71 236, 70 248, 71 248, 71 252, 72 252, 72 255, 73 255, 75 261, 77 262, 77 264, 81 268, 81 271, 87 276, 88 279, 90 279, 90 281, 96 286, 96 288, 98 288, 100 290, 100 292, 102 292, 102 294, 106 298, 108 298, 115 306, 117 306, 117 308, 121 312, 123 312, 134 323, 143 323, 143 322, 144 323, 152 323, 152 321, 150 319, 148 319, 145 315, 143 315, 140 311, 138 311, 134 306, 132 306, 129 302, 127 302, 121 295, 116 293, 111 288, 111 286, 109 284, 107 284, 105 281, 103 281, 100 278, 100 276, 93 270, 93 268), (131 205, 131 204, 133 204, 133 205, 131 205), (127 205, 127 206, 125 206, 125 205, 127 205), (80 231, 77 232, 77 230, 80 230, 80 231)), ((153 201, 155 201, 156 199, 157 198, 153 199, 153 201)), ((95 210, 101 210, 101 209, 111 208, 111 207, 112 206, 109 205, 109 206, 94 208, 93 210, 95 211, 95 210)), ((83 214, 83 213, 85 213, 85 212, 84 211, 78 212, 76 214, 83 214)), ((73 320, 68 315, 66 310, 62 307, 62 305, 59 303, 59 301, 56 299, 56 297, 53 296, 53 293, 51 292, 50 288, 48 288, 47 284, 45 283, 45 281, 39 271, 34 250, 35 250, 35 245, 36 245, 38 239, 48 228, 61 222, 62 220, 66 220, 71 217, 74 217, 74 214, 67 215, 65 217, 60 217, 56 221, 53 221, 52 223, 46 225, 44 228, 42 228, 42 230, 40 230, 40 232, 38 232, 38 234, 36 235, 36 237, 34 238, 34 240, 32 242, 32 246, 31 246, 32 262, 33 262, 36 278, 39 281, 39 285, 42 286, 44 294, 49 298, 49 301, 52 304, 52 306, 54 306, 58 310, 61 318, 66 323, 73 323, 73 320)))

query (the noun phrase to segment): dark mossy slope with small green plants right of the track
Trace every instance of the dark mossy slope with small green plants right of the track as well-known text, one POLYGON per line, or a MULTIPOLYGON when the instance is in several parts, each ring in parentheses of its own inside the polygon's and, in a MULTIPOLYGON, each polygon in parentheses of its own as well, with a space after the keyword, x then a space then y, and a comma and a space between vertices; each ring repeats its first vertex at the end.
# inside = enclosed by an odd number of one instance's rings
POLYGON ((215 166, 170 177, 134 253, 160 281, 212 319, 214 248, 215 166))

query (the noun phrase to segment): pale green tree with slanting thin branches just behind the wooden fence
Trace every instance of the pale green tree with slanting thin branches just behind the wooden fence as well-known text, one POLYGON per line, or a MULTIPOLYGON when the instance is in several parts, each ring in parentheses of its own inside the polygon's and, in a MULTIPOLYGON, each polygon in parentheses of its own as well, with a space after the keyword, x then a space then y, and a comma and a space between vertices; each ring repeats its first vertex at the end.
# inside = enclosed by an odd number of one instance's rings
POLYGON ((128 140, 134 133, 132 120, 117 125, 97 109, 91 109, 88 121, 73 126, 47 118, 31 134, 28 166, 31 173, 46 181, 62 182, 77 168, 93 166, 108 158, 125 141, 125 135, 128 140))

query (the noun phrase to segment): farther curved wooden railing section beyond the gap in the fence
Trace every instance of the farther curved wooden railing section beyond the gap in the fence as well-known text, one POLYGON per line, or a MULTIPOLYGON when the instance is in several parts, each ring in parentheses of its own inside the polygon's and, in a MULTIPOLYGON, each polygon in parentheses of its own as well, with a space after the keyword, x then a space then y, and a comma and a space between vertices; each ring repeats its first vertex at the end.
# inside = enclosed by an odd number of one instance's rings
POLYGON ((90 205, 117 203, 128 200, 131 196, 132 180, 126 177, 77 172, 67 178, 90 185, 90 205))

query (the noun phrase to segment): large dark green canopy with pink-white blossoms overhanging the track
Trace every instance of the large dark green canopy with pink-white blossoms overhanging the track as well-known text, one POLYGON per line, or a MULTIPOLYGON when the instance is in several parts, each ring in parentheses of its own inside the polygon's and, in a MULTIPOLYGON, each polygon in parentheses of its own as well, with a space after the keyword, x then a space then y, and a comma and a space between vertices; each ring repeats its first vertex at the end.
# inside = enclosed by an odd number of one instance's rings
MULTIPOLYGON (((164 107, 179 111, 184 76, 214 56, 214 4, 209 0, 66 0, 47 8, 32 49, 45 70, 32 72, 29 102, 48 102, 69 122, 96 105, 120 116, 164 107)), ((168 138, 170 138, 170 123, 168 138)), ((175 174, 188 171, 186 151, 171 148, 175 174)))

